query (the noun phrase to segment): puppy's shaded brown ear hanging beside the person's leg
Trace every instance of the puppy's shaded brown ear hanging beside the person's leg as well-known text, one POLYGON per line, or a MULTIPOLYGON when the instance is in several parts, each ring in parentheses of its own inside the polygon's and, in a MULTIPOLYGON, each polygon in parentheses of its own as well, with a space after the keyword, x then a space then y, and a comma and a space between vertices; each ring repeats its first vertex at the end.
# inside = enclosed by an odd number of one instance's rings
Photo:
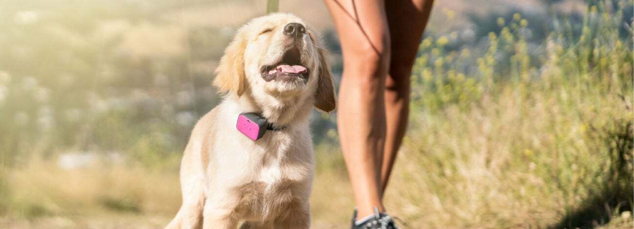
POLYGON ((317 82, 317 92, 315 93, 315 107, 324 112, 335 110, 335 84, 330 72, 330 66, 325 58, 325 49, 318 48, 319 55, 319 81, 317 82))

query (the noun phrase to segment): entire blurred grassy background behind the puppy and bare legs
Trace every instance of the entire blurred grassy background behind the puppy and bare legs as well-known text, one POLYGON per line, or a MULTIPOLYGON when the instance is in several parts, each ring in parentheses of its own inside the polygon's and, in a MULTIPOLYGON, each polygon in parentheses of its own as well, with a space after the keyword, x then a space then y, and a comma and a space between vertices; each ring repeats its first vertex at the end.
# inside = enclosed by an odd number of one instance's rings
MULTIPOLYGON (((0 227, 161 228, 235 29, 264 1, 0 1, 0 227)), ((321 1, 281 1, 321 32, 321 1), (306 10, 310 9, 310 10, 306 10)), ((632 1, 437 1, 387 207, 409 228, 631 228, 632 1)), ((353 200, 313 115, 315 228, 353 200)))

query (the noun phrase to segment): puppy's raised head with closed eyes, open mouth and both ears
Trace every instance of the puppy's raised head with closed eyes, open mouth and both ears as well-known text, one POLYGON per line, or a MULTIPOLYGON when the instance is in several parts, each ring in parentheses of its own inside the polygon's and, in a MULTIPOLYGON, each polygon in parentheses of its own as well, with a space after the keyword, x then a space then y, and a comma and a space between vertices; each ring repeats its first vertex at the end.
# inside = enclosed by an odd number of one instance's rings
POLYGON ((297 16, 276 13, 240 28, 216 69, 214 86, 254 99, 313 98, 325 112, 335 108, 335 91, 324 50, 297 16))

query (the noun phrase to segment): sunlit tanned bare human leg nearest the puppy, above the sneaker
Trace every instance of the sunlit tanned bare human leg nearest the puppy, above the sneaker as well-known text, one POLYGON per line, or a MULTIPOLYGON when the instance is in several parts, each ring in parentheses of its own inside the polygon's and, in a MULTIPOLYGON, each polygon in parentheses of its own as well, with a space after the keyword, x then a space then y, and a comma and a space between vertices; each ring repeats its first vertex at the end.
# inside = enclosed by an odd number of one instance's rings
POLYGON ((380 168, 390 37, 381 0, 325 0, 344 56, 337 126, 359 216, 384 211, 380 168))

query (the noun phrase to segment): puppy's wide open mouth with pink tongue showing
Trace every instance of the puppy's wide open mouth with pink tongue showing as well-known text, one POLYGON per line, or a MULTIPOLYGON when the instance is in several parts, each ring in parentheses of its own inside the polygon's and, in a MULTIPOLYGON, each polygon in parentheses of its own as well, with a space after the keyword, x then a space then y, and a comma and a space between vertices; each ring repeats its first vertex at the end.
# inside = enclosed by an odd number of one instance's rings
POLYGON ((298 81, 308 80, 308 69, 302 66, 301 53, 297 47, 288 49, 279 63, 262 66, 264 81, 298 81))

